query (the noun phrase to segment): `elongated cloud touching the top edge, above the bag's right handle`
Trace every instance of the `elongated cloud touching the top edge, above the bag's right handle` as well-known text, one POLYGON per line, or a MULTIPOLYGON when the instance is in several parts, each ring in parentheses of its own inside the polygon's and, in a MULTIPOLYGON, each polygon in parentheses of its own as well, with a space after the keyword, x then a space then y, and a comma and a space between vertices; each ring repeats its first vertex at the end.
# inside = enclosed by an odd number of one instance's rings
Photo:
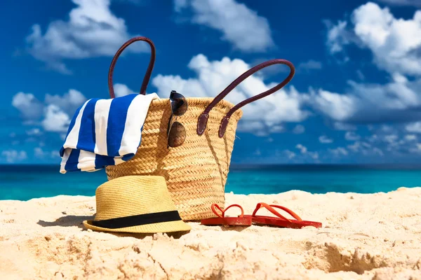
POLYGON ((274 45, 269 22, 235 0, 175 0, 175 11, 190 8, 192 22, 222 32, 222 39, 246 52, 265 51, 274 45))

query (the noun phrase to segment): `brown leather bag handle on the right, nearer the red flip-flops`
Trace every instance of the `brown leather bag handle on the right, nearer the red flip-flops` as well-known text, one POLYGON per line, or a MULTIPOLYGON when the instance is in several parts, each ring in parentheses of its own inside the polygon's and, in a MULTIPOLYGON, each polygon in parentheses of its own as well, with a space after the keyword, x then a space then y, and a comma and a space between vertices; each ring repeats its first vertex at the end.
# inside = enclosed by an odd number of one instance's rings
POLYGON ((276 86, 272 87, 270 90, 262 92, 262 93, 260 93, 256 96, 254 96, 254 97, 250 97, 250 98, 244 100, 243 102, 240 102, 239 104, 236 104, 236 106, 232 107, 232 109, 228 111, 227 115, 225 115, 225 117, 222 118, 222 120, 221 120, 220 130, 218 132, 220 138, 224 137, 225 130, 227 129, 227 125, 229 123, 229 118, 232 116, 232 114, 235 111, 237 111, 238 109, 240 109, 242 106, 244 106, 246 104, 249 104, 251 102, 255 102, 258 99, 261 99, 263 97, 267 97, 269 94, 272 94, 272 93, 280 90, 287 83, 289 83, 290 80, 293 79, 293 76, 294 76, 294 73, 295 73, 295 68, 294 68, 294 65, 291 62, 289 62, 288 60, 272 59, 272 60, 268 60, 267 62, 263 62, 261 64, 258 64, 256 66, 254 66, 253 68, 244 72, 241 76, 239 76, 239 78, 236 78, 234 80, 234 82, 232 82, 230 85, 228 85, 225 88, 225 90, 222 90, 222 92, 220 94, 218 94, 215 97, 215 99, 213 99, 212 102, 210 102, 210 104, 206 107, 205 111, 203 111, 203 113, 201 113, 201 115, 199 116, 199 120, 197 120, 197 134, 201 135, 205 131, 206 124, 208 123, 209 112, 210 112, 210 110, 213 109, 213 107, 216 104, 218 104, 218 102, 220 102, 225 96, 227 96, 227 94, 229 94, 229 92, 234 90, 234 88, 237 85, 239 85, 243 80, 246 80, 246 78, 253 75, 253 73, 255 73, 257 71, 260 71, 261 69, 263 69, 267 66, 274 65, 274 64, 285 64, 285 65, 287 65, 290 68, 290 73, 289 73, 288 77, 286 77, 286 79, 283 80, 282 83, 279 83, 279 85, 276 85, 276 86))

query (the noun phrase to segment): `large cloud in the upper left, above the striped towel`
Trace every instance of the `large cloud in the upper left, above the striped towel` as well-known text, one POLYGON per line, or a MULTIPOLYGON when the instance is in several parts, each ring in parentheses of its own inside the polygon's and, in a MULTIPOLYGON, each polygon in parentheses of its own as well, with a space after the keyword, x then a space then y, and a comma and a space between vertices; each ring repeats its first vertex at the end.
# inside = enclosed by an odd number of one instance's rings
MULTIPOLYGON (((77 5, 69 20, 54 20, 42 34, 41 26, 32 26, 26 41, 29 53, 61 73, 71 73, 63 59, 112 56, 133 35, 128 34, 126 22, 109 10, 109 0, 72 0, 77 5)), ((147 46, 139 43, 127 48, 141 52, 147 46)))

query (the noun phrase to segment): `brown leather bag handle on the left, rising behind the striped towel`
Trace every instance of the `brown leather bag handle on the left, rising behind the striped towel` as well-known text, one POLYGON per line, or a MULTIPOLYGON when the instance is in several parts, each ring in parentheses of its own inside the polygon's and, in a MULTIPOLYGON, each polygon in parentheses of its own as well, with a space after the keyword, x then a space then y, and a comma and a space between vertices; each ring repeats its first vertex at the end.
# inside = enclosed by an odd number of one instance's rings
POLYGON ((154 69, 154 64, 155 64, 155 46, 154 46, 154 43, 149 38, 138 36, 138 37, 131 38, 126 43, 123 43, 123 45, 121 45, 119 50, 117 50, 116 54, 114 55, 112 59, 112 62, 111 62, 111 65, 109 66, 109 71, 108 71, 108 88, 109 88, 109 96, 111 98, 115 97, 114 87, 112 84, 112 74, 114 73, 114 66, 116 65, 117 59, 121 55, 121 52, 123 52, 123 50, 127 48, 128 45, 130 45, 131 43, 134 43, 135 41, 145 41, 149 43, 151 47, 151 59, 149 61, 149 66, 147 66, 145 77, 143 78, 142 87, 140 87, 140 94, 143 94, 143 95, 146 94, 146 87, 147 87, 147 84, 149 83, 149 79, 151 78, 152 70, 154 69))

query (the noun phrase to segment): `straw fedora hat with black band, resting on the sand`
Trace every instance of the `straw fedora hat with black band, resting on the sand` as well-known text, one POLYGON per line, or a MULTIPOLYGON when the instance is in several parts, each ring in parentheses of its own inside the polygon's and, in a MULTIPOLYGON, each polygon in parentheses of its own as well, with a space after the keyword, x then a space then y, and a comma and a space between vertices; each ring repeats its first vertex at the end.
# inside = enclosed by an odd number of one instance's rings
POLYGON ((83 225, 106 232, 180 232, 191 230, 178 214, 162 176, 123 176, 95 192, 97 213, 83 225))

